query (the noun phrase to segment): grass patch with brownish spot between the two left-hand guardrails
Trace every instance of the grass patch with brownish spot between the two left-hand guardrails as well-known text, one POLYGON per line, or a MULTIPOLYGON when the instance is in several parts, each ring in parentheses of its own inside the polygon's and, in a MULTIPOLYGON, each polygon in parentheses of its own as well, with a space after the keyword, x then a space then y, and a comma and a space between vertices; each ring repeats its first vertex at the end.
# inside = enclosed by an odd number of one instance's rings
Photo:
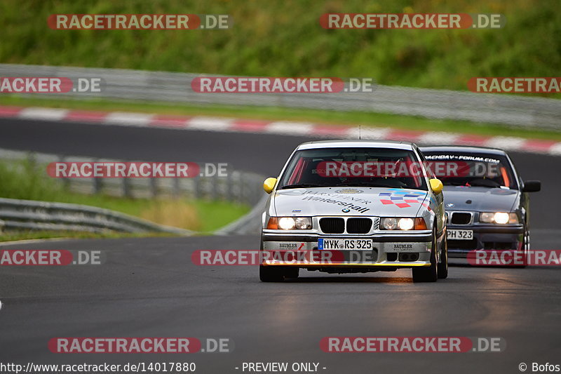
MULTIPOLYGON (((201 233, 215 231, 250 210, 245 204, 229 201, 126 199, 104 194, 78 194, 65 189, 58 180, 50 179, 45 173, 45 166, 30 160, 1 161, 0 180, 0 197, 97 206, 144 219, 156 218, 154 222, 159 219, 161 222, 158 223, 201 233)), ((31 233, 25 237, 33 238, 35 235, 31 233)), ((73 237, 76 235, 88 234, 73 234, 73 237)))

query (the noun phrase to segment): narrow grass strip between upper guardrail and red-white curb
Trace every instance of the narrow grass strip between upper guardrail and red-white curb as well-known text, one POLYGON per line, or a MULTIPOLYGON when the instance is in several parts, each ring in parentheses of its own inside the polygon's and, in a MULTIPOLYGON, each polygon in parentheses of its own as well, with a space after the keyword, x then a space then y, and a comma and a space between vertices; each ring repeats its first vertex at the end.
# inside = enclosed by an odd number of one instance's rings
POLYGON ((65 100, 0 96, 0 105, 60 107, 100 111, 147 112, 186 116, 229 116, 270 121, 309 121, 327 125, 391 127, 416 131, 444 131, 476 135, 519 136, 546 140, 561 140, 560 131, 534 128, 510 128, 496 123, 426 119, 419 116, 372 112, 334 112, 320 109, 292 109, 280 107, 242 107, 226 105, 178 105, 165 102, 129 102, 120 100, 65 100))

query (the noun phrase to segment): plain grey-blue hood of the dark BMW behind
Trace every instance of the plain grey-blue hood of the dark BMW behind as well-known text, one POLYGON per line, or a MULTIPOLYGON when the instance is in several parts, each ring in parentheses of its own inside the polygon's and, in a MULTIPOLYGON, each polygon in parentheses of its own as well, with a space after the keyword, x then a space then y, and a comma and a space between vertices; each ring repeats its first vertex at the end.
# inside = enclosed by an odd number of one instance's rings
POLYGON ((447 211, 510 212, 520 192, 516 189, 445 186, 447 211))

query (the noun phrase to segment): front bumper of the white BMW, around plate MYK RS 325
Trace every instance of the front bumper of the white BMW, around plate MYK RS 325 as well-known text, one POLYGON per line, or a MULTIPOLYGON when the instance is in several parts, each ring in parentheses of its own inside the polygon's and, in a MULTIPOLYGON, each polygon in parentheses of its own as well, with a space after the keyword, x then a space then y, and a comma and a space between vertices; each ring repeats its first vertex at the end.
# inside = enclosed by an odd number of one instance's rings
MULTIPOLYGON (((319 234, 295 231, 280 233, 278 230, 263 230, 262 250, 295 252, 320 251, 318 250, 318 239, 320 238, 370 239, 372 240, 372 250, 338 250, 337 253, 344 256, 344 260, 342 261, 314 261, 310 256, 306 261, 265 260, 262 262, 262 265, 295 266, 308 269, 323 267, 387 267, 389 269, 431 265, 431 251, 433 249, 431 230, 423 230, 414 233, 407 232, 405 234, 376 233, 370 235, 319 234)), ((340 257, 337 258, 340 259, 340 257)))

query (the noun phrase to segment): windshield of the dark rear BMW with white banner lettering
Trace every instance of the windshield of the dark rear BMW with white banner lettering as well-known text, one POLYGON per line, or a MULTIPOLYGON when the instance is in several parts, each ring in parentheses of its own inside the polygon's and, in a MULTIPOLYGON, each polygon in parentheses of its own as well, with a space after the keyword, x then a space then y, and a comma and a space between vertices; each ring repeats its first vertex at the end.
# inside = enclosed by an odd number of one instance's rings
POLYGON ((500 154, 423 152, 444 185, 518 189, 511 163, 500 154))

